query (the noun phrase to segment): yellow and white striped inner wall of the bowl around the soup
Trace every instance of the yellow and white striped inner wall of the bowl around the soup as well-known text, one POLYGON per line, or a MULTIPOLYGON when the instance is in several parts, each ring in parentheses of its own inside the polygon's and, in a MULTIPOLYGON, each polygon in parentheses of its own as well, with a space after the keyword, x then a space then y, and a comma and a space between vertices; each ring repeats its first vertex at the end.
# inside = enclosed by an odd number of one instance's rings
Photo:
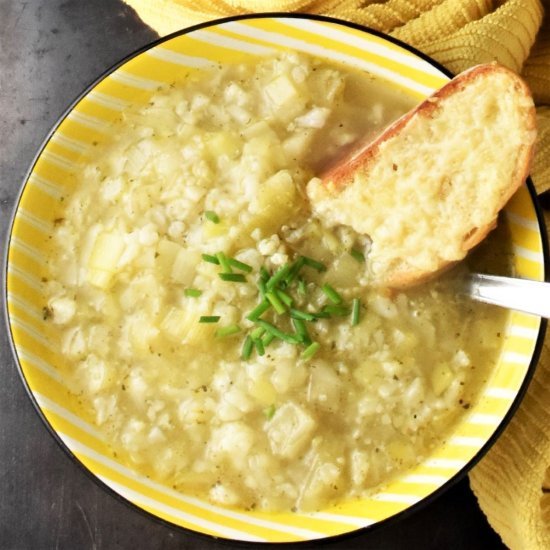
MULTIPOLYGON (((449 79, 426 56, 379 33, 321 17, 265 14, 193 27, 160 40, 100 78, 70 107, 34 162, 13 218, 7 259, 7 314, 29 395, 61 444, 106 486, 133 505, 171 524, 226 539, 289 542, 349 533, 398 517, 434 498, 463 474, 502 429, 524 392, 542 342, 540 318, 510 313, 501 360, 452 436, 412 471, 371 498, 317 513, 265 514, 219 508, 136 475, 114 460, 101 435, 77 414, 56 371, 42 319, 38 273, 51 231, 53 205, 70 191, 73 166, 130 103, 144 103, 159 85, 212 62, 233 63, 294 49, 360 67, 419 100, 449 79)), ((545 241, 532 187, 506 208, 518 276, 544 280, 545 241)))

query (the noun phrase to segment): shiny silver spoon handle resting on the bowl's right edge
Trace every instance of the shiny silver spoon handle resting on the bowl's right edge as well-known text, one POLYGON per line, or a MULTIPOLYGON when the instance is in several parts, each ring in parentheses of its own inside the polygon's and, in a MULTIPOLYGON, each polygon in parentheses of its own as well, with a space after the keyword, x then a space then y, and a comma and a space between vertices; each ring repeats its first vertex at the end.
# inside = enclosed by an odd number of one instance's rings
POLYGON ((479 302, 550 318, 550 283, 470 273, 464 294, 479 302))

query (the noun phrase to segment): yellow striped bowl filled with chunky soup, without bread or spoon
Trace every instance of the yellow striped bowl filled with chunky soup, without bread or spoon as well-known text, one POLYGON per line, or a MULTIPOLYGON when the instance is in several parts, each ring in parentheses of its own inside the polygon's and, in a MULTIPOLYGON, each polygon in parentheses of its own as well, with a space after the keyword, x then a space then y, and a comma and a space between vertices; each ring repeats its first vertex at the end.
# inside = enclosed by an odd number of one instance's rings
POLYGON ((99 483, 198 533, 306 541, 399 518, 487 450, 543 323, 457 276, 544 279, 532 186, 400 291, 306 193, 449 78, 365 28, 244 16, 154 43, 67 110, 18 201, 7 314, 32 403, 99 483))

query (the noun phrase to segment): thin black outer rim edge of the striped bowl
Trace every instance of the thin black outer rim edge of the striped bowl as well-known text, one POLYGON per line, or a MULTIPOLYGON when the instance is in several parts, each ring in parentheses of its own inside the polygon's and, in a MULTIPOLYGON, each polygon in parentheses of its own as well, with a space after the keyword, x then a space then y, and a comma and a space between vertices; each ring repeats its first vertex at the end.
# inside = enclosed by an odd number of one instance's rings
MULTIPOLYGON (((328 17, 324 15, 317 15, 317 14, 307 14, 307 13, 286 13, 286 12, 264 12, 264 13, 257 13, 257 14, 244 14, 244 15, 235 15, 231 17, 224 17, 219 19, 214 19, 211 21, 206 21, 203 23, 199 23, 197 25, 192 25, 189 27, 186 27, 184 29, 181 29, 179 31, 173 32, 169 35, 160 37, 157 40, 154 40, 145 46, 135 50, 134 52, 128 54, 123 59, 112 65, 111 67, 107 68, 105 71, 103 71, 95 80, 93 80, 88 86, 85 87, 85 89, 70 103, 70 105, 65 109, 65 111, 58 117, 57 122, 52 126, 50 131, 47 133, 47 135, 44 137, 41 145, 38 148, 38 152, 34 156, 29 169, 27 170, 27 173, 25 174, 19 194, 16 198, 13 211, 11 214, 11 219, 9 223, 9 229, 7 233, 7 239, 6 239, 6 246, 4 249, 4 269, 3 269, 3 275, 4 275, 4 292, 3 292, 3 313, 4 318, 6 322, 6 326, 8 329, 8 338, 9 338, 9 344, 10 348, 13 354, 13 357, 15 359, 16 368, 19 374, 19 378, 23 384, 23 387, 34 407, 35 412, 38 414, 42 422, 44 423, 46 429, 51 434, 51 436, 54 438, 55 441, 59 444, 59 446, 63 449, 63 451, 69 456, 69 458, 75 462, 81 470, 84 471, 84 473, 91 478, 98 486, 100 486, 103 490, 105 490, 108 494, 113 496, 116 500, 123 502, 131 509, 136 510, 141 515, 153 519, 157 523, 160 523, 170 529, 180 531, 182 533, 185 533, 187 535, 192 535, 195 537, 198 537, 200 539, 206 539, 209 541, 216 541, 227 545, 237 545, 243 548, 252 548, 255 545, 262 545, 262 546, 269 546, 269 545, 283 545, 283 546, 300 546, 302 548, 308 548, 308 547, 314 547, 321 544, 330 544, 332 542, 341 541, 345 539, 352 539, 358 536, 365 535, 369 532, 373 532, 374 530, 378 530, 381 528, 387 528, 388 526, 392 526, 402 519, 405 519, 406 517, 414 514, 416 511, 420 510, 421 508, 427 506, 428 504, 434 502, 443 492, 447 491, 450 487, 454 486, 456 483, 464 479, 464 477, 468 474, 468 472, 481 460, 481 458, 487 453, 487 451, 490 449, 490 447, 495 443, 495 441, 500 437, 506 426, 509 424, 510 420, 512 419, 513 415, 517 411, 521 401, 523 400, 525 393, 527 391, 527 388, 529 386, 529 383, 531 379, 533 378, 533 374, 535 372, 536 366, 538 364, 540 354, 543 347, 544 337, 546 334, 546 327, 547 327, 547 320, 541 319, 541 325, 539 328, 539 333, 537 336, 537 340, 535 343, 535 348, 533 350, 533 355, 531 357, 531 362, 529 364, 529 367, 527 369, 527 372, 525 374, 525 377, 523 379, 523 382, 521 384, 520 389, 518 390, 518 393, 510 405, 510 408, 508 409, 508 412, 504 415, 503 419, 501 420, 498 427, 495 429, 491 437, 486 441, 486 443, 479 449, 479 451, 475 454, 474 457, 472 457, 468 463, 456 474, 454 474, 451 478, 449 478, 443 485, 438 487, 435 491, 427 495, 426 497, 422 498, 417 503, 407 507, 406 509, 402 510, 401 512, 398 512, 394 514, 393 516, 390 516, 388 518, 385 518, 381 521, 378 521, 374 524, 367 525, 365 527, 359 527, 356 529, 353 529, 351 531, 347 531, 344 533, 341 533, 339 535, 333 535, 333 536, 327 536, 323 537, 321 539, 313 539, 313 540, 305 540, 305 541, 296 541, 296 542, 250 542, 246 540, 239 540, 239 539, 229 539, 224 537, 217 537, 214 535, 209 535, 207 533, 202 533, 200 531, 195 531, 193 529, 183 527, 181 525, 177 525, 175 523, 172 523, 168 520, 165 520, 163 518, 160 518, 156 516, 155 514, 148 512, 147 510, 144 510, 139 505, 134 504, 130 500, 128 500, 126 497, 109 487, 104 481, 101 481, 96 474, 94 474, 90 469, 88 469, 87 466, 85 466, 69 449, 69 447, 65 444, 65 442, 61 439, 61 437, 58 435, 56 430, 51 426, 49 421, 47 420, 46 416, 44 415, 40 405, 38 404, 34 394, 32 393, 30 389, 30 385, 27 382, 27 379, 25 377, 25 374, 23 373, 23 369, 21 367, 21 363, 19 361, 19 355, 17 353, 17 349, 15 346, 13 333, 11 329, 11 323, 10 323, 10 316, 8 311, 8 296, 7 296, 7 275, 8 275, 8 257, 9 257, 9 250, 11 245, 11 238, 12 238, 12 232, 13 232, 13 226, 15 223, 15 218, 17 211, 19 209, 19 205, 21 202, 21 198, 23 196, 23 193, 25 191, 25 188, 27 186, 28 180, 30 175, 32 174, 34 167, 42 155, 42 152, 44 151, 45 147, 48 145, 50 139, 55 134, 61 123, 65 120, 65 118, 70 114, 70 112, 74 109, 74 107, 81 101, 90 91, 93 90, 95 86, 97 86, 101 81, 103 81, 106 77, 108 77, 111 73, 113 73, 116 69, 130 61, 131 59, 141 55, 142 53, 150 50, 151 48, 158 46, 159 44, 162 44, 164 42, 168 42, 173 38, 176 38, 178 36, 182 36, 185 34, 189 34, 191 32, 217 26, 223 23, 232 22, 232 21, 241 21, 245 19, 266 19, 266 18, 287 18, 287 19, 306 19, 306 20, 316 20, 316 21, 324 21, 327 23, 332 23, 336 26, 344 26, 353 28, 355 30, 362 31, 366 34, 371 34, 374 36, 377 36, 379 38, 382 38, 388 42, 391 42, 397 46, 402 47, 403 49, 411 52, 415 56, 423 59, 424 61, 428 62, 431 66, 434 68, 440 70, 443 74, 446 76, 452 78, 454 75, 451 71, 449 71, 447 68, 445 68, 443 65, 441 65, 439 62, 432 59, 430 56, 426 55, 425 53, 417 50, 413 46, 410 46, 409 44, 402 42, 401 40, 398 40, 396 38, 393 38, 389 35, 386 35, 383 32, 377 31, 375 29, 371 29, 369 27, 366 27, 364 25, 359 25, 357 23, 352 23, 349 21, 344 21, 341 19, 337 19, 335 17, 328 17)), ((527 189, 530 195, 530 198, 533 202, 533 206, 535 208, 535 213, 537 216, 537 222, 540 228, 541 232, 541 241, 542 241, 542 249, 543 249, 543 260, 544 260, 544 280, 546 282, 550 282, 550 251, 548 247, 548 237, 546 233, 546 224, 544 221, 544 215, 542 213, 542 207, 540 205, 539 199, 537 197, 535 186, 531 180, 530 177, 526 180, 527 189)))

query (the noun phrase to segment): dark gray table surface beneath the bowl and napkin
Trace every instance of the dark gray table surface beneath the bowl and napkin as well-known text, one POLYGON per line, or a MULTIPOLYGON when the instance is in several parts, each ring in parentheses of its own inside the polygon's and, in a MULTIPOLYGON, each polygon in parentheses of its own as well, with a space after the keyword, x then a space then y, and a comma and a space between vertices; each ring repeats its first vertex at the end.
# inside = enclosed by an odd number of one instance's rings
MULTIPOLYGON (((0 0, 2 256, 24 175, 49 128, 91 81, 155 38, 118 0, 0 0)), ((86 475, 34 411, 3 316, 0 325, 0 550, 237 547, 159 523, 86 475)), ((398 521, 326 547, 504 548, 467 479, 398 521)))

